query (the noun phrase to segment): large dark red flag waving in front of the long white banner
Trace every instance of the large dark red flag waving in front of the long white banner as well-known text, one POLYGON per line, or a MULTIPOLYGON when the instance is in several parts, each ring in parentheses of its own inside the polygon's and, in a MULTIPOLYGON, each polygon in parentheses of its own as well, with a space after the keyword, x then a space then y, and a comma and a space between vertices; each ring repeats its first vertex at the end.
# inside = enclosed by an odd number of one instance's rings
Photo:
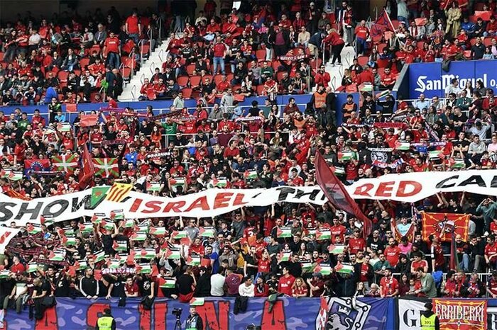
POLYGON ((323 190, 329 202, 337 210, 343 210, 359 219, 363 223, 363 235, 364 237, 368 237, 373 227, 371 220, 363 214, 356 201, 350 197, 342 182, 329 169, 326 160, 320 152, 316 152, 315 167, 317 184, 323 190))

